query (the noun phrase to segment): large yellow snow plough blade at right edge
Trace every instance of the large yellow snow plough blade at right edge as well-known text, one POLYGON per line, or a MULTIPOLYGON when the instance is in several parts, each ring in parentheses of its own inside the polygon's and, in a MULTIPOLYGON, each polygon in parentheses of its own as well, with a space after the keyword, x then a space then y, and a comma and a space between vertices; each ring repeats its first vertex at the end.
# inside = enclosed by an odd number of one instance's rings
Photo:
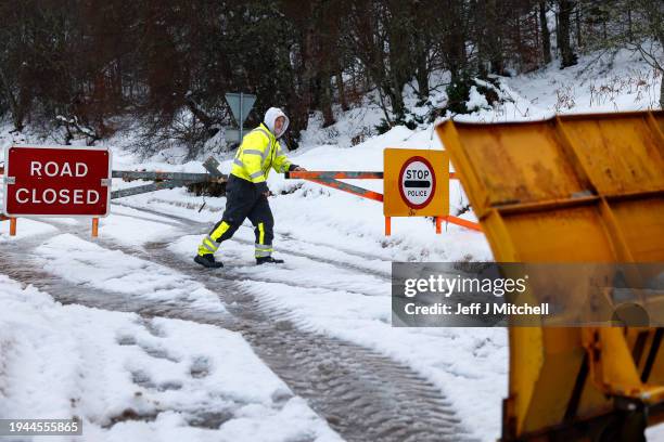
MULTIPOLYGON (((664 262, 664 113, 436 130, 496 261, 664 262)), ((663 335, 510 327, 502 440, 639 440, 664 421, 663 335)))

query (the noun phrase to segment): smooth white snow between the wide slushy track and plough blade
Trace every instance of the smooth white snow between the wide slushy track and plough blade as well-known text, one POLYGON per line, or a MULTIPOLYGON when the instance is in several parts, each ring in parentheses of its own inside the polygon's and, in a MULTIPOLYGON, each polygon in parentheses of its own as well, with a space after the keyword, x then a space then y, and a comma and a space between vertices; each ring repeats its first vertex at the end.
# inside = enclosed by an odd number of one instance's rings
MULTIPOLYGON (((259 294, 266 306, 291 312, 291 320, 304 329, 379 349, 413 367, 452 399, 465 425, 482 440, 499 434, 497 402, 487 399, 507 394, 506 329, 394 328, 388 296, 375 298, 343 289, 302 289, 248 280, 243 284, 259 294)), ((390 283, 383 286, 388 292, 390 283)))

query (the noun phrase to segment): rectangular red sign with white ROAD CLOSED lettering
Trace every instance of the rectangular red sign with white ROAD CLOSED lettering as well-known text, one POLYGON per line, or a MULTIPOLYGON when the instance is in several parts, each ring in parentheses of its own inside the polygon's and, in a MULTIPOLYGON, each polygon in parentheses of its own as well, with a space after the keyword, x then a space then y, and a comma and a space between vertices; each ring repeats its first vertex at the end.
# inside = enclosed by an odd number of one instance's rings
POLYGON ((4 158, 4 213, 8 216, 108 214, 108 150, 12 146, 5 150, 4 158))

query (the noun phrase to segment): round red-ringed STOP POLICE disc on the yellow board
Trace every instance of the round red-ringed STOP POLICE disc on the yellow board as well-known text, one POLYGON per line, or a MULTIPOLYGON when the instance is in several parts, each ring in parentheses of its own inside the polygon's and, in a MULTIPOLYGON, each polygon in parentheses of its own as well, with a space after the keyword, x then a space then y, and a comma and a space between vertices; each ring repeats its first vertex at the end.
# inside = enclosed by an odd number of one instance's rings
POLYGON ((426 158, 409 158, 399 172, 399 193, 404 203, 413 209, 426 207, 436 191, 436 174, 426 158))

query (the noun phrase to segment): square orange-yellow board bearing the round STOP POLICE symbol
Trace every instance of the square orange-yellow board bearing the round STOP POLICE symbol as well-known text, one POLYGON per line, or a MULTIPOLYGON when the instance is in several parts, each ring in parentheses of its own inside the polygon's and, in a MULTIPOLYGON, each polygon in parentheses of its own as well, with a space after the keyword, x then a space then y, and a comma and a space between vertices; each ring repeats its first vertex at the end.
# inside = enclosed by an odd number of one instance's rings
POLYGON ((384 151, 385 217, 449 214, 449 160, 444 151, 384 151))

